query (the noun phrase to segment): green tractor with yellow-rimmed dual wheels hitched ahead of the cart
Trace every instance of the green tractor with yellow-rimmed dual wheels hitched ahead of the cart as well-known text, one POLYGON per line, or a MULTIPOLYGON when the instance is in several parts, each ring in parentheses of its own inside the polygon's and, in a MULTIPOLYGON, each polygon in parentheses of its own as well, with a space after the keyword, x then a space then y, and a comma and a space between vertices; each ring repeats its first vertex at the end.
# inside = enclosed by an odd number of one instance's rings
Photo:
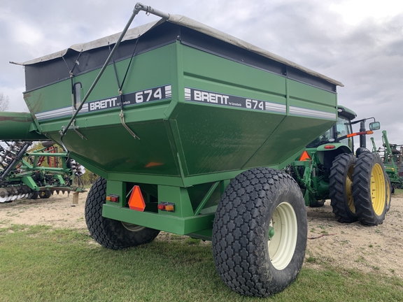
POLYGON ((306 145, 287 171, 302 188, 306 206, 323 206, 330 199, 339 222, 378 225, 390 206, 390 183, 379 154, 366 148, 366 136, 380 124, 373 117, 352 122, 355 117, 352 110, 338 106, 336 124, 306 145), (369 131, 367 120, 374 120, 369 131), (357 123, 360 131, 354 133, 352 125, 357 123), (355 154, 354 136, 360 136, 355 154))

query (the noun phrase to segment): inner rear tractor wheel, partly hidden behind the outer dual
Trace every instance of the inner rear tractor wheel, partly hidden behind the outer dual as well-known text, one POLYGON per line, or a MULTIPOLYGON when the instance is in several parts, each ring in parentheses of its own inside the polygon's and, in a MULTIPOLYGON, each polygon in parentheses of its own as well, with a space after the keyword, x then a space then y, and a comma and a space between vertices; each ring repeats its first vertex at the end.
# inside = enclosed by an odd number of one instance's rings
POLYGON ((355 156, 346 153, 334 159, 330 170, 330 205, 338 222, 350 223, 358 220, 351 192, 354 166, 355 156))

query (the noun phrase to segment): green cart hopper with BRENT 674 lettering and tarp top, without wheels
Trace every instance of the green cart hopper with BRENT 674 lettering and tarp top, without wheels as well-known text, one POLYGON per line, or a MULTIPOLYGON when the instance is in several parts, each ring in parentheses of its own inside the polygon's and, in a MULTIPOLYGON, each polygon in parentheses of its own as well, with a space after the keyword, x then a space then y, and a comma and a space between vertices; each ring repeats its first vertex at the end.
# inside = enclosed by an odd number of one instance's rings
POLYGON ((117 37, 23 63, 31 129, 104 178, 188 186, 278 168, 337 119, 340 82, 170 15, 127 31, 61 142, 117 37))

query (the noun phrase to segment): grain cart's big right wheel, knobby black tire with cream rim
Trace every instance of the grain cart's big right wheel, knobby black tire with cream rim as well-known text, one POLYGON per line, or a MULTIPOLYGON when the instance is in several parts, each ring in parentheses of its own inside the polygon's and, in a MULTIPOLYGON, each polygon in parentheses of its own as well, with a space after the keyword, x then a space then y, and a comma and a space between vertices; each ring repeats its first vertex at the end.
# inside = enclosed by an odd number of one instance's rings
POLYGON ((265 297, 288 287, 306 249, 306 208, 290 175, 254 168, 234 178, 215 212, 213 258, 239 294, 265 297))

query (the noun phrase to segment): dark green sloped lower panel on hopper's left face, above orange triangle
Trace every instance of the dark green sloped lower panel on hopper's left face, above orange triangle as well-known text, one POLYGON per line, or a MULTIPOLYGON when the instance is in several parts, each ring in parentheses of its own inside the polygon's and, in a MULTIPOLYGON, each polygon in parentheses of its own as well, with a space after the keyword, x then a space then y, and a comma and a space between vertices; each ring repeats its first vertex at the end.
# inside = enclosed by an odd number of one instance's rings
MULTIPOLYGON (((132 125, 130 125, 132 126, 132 125)), ((146 127, 132 126, 140 137, 134 139, 120 124, 103 129, 80 129, 87 140, 69 134, 64 143, 73 154, 108 172, 178 175, 176 154, 171 151, 163 121, 149 122, 146 127)))

